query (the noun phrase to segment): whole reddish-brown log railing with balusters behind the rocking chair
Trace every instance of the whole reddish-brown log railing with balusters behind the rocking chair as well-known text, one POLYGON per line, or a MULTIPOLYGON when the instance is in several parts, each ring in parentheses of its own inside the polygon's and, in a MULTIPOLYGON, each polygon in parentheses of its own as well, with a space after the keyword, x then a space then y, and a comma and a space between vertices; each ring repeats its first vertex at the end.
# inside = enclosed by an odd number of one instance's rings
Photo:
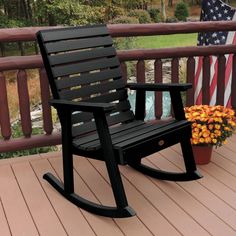
MULTIPOLYGON (((109 25, 109 31, 113 37, 133 37, 148 35, 168 35, 177 33, 193 33, 208 31, 236 31, 235 22, 192 22, 173 24, 143 24, 143 25, 109 25)), ((45 28, 45 27, 43 27, 45 28)), ((1 29, 1 42, 23 42, 35 40, 35 33, 42 27, 1 29)), ((154 81, 163 82, 162 65, 163 59, 171 60, 171 82, 179 83, 179 60, 187 58, 187 82, 193 83, 195 74, 195 57, 202 56, 203 59, 203 95, 202 102, 208 104, 210 101, 210 63, 209 56, 215 55, 219 59, 217 96, 216 103, 224 104, 224 70, 225 55, 233 54, 232 83, 231 83, 231 106, 236 108, 236 46, 219 45, 209 47, 181 47, 161 49, 132 49, 119 51, 118 56, 122 63, 124 78, 127 79, 127 67, 125 62, 136 61, 137 82, 145 82, 145 60, 154 60, 154 81)), ((194 83, 193 83, 194 85, 194 83)), ((187 93, 187 105, 194 103, 194 86, 187 93)), ((60 144, 60 135, 53 130, 51 109, 48 105, 50 96, 46 73, 43 68, 40 55, 33 56, 12 56, 0 58, 0 127, 2 140, 0 141, 0 152, 29 149, 39 146, 60 144), (30 116, 30 100, 27 86, 27 69, 38 69, 41 102, 43 109, 43 135, 32 135, 32 124, 30 116), (16 82, 18 86, 19 113, 23 137, 13 139, 11 117, 7 99, 6 77, 3 72, 17 70, 16 82)), ((162 95, 155 94, 155 116, 160 119, 162 116, 162 95)))

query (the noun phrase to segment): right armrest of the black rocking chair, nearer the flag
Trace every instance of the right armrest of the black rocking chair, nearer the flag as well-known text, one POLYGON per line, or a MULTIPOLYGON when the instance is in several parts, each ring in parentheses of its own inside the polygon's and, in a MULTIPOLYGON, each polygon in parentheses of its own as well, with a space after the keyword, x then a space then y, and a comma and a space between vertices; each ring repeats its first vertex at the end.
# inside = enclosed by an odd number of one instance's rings
POLYGON ((126 85, 131 90, 144 90, 144 91, 186 91, 192 88, 192 84, 184 83, 163 83, 163 84, 151 84, 151 83, 129 83, 126 85))

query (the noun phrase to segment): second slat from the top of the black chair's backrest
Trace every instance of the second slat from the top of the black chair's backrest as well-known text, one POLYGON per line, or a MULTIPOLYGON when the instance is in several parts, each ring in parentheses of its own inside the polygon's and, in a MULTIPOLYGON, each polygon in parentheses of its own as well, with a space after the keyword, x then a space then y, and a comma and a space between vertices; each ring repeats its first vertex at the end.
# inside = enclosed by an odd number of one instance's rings
POLYGON ((45 47, 47 53, 58 53, 109 45, 112 45, 112 39, 110 36, 105 36, 78 40, 63 40, 59 42, 47 43, 45 47))

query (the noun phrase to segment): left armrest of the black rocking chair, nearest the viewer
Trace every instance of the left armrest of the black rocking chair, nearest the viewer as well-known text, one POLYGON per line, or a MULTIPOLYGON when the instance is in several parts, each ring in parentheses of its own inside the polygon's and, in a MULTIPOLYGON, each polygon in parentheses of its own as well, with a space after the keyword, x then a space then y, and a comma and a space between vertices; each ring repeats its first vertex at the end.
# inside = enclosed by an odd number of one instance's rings
POLYGON ((69 109, 70 111, 103 111, 106 113, 115 109, 115 105, 110 103, 73 102, 63 99, 51 99, 49 103, 57 109, 69 109))

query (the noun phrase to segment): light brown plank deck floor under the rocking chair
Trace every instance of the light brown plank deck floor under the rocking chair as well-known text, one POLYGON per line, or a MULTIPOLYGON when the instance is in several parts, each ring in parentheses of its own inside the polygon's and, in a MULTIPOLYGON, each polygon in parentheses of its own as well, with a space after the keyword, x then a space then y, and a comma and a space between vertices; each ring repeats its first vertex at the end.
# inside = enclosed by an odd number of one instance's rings
MULTIPOLYGON (((120 167, 129 204, 137 216, 109 219, 63 199, 46 181, 62 177, 60 153, 0 161, 0 235, 236 235, 236 135, 214 149, 212 162, 199 166, 204 178, 173 183, 120 167)), ((150 156, 150 165, 182 169, 179 146, 150 156)), ((75 158, 76 191, 112 204, 103 163, 75 158)))

